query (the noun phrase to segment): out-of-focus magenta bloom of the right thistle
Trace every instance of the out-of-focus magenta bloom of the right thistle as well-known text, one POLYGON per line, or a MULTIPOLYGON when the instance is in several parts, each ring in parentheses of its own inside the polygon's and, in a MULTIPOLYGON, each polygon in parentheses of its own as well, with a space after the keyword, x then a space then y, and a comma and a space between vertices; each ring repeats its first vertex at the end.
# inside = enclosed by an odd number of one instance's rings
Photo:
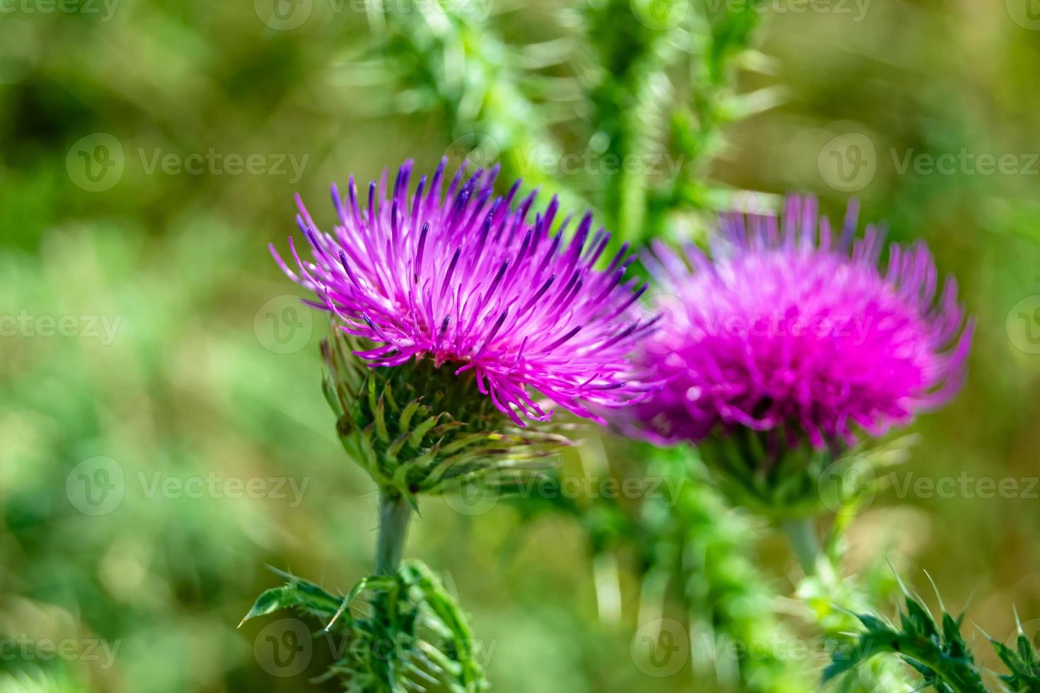
POLYGON ((943 404, 964 377, 971 322, 924 243, 889 246, 850 205, 839 238, 814 198, 789 198, 782 219, 721 219, 709 259, 657 245, 647 258, 667 323, 645 357, 667 382, 639 407, 669 441, 746 427, 778 448, 851 445, 943 404))

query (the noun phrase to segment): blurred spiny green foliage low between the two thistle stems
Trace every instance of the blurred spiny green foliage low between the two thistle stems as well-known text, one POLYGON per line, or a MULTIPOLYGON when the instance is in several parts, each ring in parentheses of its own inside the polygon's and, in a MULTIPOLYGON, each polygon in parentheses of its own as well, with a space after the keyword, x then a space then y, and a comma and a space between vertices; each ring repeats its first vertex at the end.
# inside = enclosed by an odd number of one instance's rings
MULTIPOLYGON (((593 487, 603 489, 608 479, 619 488, 639 480, 639 488, 603 494, 590 504, 566 492, 573 477, 565 470, 545 487, 542 504, 523 498, 516 506, 528 522, 551 509, 581 524, 593 555, 600 618, 620 617, 617 571, 620 557, 627 556, 641 582, 640 633, 648 627, 688 633, 691 668, 699 681, 773 693, 809 687, 811 675, 801 663, 772 649, 751 651, 752 643, 797 637, 776 617, 775 585, 755 567, 749 537, 762 531, 760 523, 726 505, 690 451, 595 438, 586 441, 583 450, 584 469, 576 476, 592 477, 593 487)), ((652 663, 667 644, 661 637, 657 633, 654 649, 643 652, 650 671, 668 670, 667 660, 652 663)))

